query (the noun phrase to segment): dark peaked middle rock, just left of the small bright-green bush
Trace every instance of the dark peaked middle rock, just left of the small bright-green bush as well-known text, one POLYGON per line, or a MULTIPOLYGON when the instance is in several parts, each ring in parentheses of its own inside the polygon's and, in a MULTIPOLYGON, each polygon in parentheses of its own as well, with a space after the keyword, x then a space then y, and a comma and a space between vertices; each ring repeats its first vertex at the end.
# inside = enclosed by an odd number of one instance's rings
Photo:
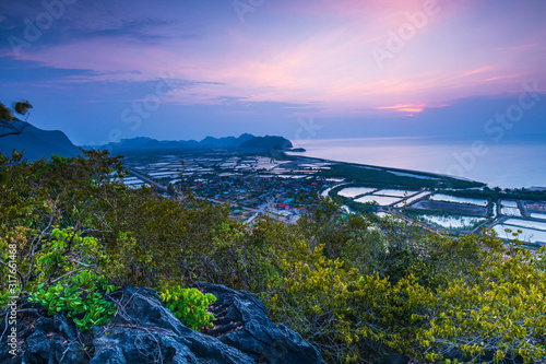
POLYGON ((149 289, 126 287, 117 293, 112 325, 95 334, 90 364, 130 363, 254 363, 252 357, 216 338, 183 326, 149 289))

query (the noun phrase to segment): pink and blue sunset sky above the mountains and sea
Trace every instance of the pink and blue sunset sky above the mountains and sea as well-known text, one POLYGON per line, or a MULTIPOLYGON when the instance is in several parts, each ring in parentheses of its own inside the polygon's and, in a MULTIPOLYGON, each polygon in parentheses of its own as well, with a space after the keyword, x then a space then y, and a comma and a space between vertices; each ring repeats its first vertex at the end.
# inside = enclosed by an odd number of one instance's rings
POLYGON ((544 0, 0 0, 0 102, 123 138, 546 140, 544 0))

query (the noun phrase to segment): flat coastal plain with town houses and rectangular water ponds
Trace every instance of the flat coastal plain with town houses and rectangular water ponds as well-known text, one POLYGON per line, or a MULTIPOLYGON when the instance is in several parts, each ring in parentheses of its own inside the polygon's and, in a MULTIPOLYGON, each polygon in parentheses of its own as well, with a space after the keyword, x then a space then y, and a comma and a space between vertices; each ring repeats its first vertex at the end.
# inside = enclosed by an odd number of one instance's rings
POLYGON ((347 213, 375 213, 450 235, 489 227, 507 242, 518 237, 530 248, 546 244, 544 191, 491 190, 455 177, 289 154, 135 153, 124 157, 130 174, 123 184, 154 186, 170 197, 186 190, 213 203, 229 203, 230 216, 248 224, 260 215, 295 223, 319 196, 329 196, 347 213))

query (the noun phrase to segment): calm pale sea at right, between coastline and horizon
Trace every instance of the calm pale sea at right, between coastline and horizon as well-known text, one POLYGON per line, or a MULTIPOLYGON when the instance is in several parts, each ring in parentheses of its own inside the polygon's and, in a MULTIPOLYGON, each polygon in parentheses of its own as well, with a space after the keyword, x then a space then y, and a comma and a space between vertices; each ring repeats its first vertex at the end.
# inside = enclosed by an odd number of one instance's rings
POLYGON ((546 141, 485 142, 429 138, 296 140, 296 155, 431 172, 486 183, 489 187, 546 187, 546 141))

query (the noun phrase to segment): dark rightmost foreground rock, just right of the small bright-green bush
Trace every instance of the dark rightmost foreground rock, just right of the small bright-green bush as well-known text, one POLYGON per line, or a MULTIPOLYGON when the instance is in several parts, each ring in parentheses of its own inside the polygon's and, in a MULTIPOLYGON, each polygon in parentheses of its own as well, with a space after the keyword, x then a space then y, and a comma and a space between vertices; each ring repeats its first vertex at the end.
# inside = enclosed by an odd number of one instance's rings
POLYGON ((192 285, 212 293, 216 302, 214 329, 206 334, 251 355, 258 363, 321 363, 319 351, 284 325, 273 325, 258 296, 224 285, 199 282, 192 285))

